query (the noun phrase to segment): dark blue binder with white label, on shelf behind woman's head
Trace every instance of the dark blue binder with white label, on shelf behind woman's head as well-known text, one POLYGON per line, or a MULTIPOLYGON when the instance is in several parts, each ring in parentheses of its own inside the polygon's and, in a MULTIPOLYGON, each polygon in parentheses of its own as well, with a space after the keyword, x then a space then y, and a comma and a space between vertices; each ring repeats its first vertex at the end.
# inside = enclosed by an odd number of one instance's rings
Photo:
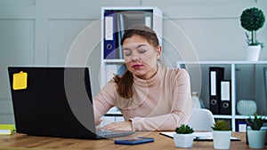
POLYGON ((116 13, 104 12, 104 59, 117 59, 116 13))

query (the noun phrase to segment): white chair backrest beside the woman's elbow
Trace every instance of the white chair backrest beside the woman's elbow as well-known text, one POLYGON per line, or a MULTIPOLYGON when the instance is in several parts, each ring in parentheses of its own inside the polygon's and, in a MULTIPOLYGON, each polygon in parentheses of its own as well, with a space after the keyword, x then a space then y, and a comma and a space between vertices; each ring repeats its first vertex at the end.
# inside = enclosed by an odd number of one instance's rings
POLYGON ((211 127, 214 126, 214 115, 208 109, 193 109, 193 114, 190 116, 190 121, 188 122, 188 124, 194 130, 211 131, 211 127))

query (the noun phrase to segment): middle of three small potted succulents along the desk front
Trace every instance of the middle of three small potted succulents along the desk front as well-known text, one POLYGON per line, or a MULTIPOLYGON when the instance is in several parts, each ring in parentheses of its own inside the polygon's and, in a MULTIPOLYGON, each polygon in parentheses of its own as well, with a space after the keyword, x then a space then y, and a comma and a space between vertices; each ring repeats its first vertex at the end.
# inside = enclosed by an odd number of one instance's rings
POLYGON ((213 140, 214 149, 230 149, 231 144, 231 125, 230 122, 218 120, 214 123, 213 140))

